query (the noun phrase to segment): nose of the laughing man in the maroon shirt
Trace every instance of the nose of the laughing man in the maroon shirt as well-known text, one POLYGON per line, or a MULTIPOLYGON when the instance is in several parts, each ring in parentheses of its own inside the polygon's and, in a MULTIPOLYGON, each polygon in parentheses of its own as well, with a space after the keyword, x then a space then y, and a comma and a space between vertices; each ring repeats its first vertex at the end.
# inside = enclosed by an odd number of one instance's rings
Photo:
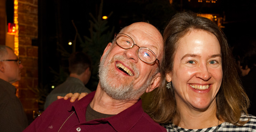
POLYGON ((136 45, 134 45, 130 49, 125 50, 124 54, 125 54, 126 59, 131 60, 131 61, 137 63, 138 60, 139 60, 138 50, 139 50, 139 47, 136 46, 136 45))

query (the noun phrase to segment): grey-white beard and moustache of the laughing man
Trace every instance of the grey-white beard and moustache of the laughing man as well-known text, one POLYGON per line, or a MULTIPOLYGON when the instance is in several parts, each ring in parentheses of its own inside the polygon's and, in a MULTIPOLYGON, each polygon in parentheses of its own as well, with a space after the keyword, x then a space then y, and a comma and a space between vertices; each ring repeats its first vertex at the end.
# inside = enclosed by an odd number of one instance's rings
MULTIPOLYGON (((109 50, 110 51, 110 50, 109 50)), ((99 65, 99 79, 101 88, 107 93, 108 96, 116 100, 138 100, 139 97, 146 91, 146 88, 150 85, 153 78, 151 76, 145 85, 140 88, 134 89, 134 80, 139 77, 139 69, 137 69, 134 63, 127 61, 124 56, 115 55, 110 61, 108 61, 107 66, 103 66, 106 61, 106 56, 109 51, 103 56, 99 65), (111 64, 115 63, 116 60, 126 62, 125 64, 132 68, 135 72, 135 77, 131 82, 120 83, 120 80, 125 80, 126 77, 117 74, 114 67, 111 70, 111 64)))

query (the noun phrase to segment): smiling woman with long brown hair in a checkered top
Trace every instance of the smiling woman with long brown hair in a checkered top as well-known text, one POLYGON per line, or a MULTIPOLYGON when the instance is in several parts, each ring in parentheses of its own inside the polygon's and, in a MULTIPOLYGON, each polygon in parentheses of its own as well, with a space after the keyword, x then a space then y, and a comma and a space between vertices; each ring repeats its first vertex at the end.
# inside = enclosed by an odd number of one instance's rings
POLYGON ((248 97, 216 24, 180 12, 166 26, 164 43, 166 81, 148 112, 156 122, 167 131, 255 131, 256 117, 247 115, 248 97))

